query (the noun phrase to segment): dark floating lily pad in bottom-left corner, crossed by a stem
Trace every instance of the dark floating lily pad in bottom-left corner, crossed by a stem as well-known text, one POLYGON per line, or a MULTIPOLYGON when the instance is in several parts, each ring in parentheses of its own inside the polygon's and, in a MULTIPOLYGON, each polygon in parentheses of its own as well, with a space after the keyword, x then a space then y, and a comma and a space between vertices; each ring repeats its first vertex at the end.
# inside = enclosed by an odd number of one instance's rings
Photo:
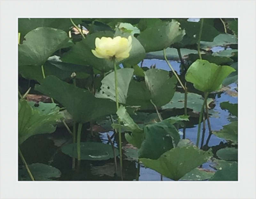
MULTIPOLYGON (((53 179, 59 178, 61 175, 59 169, 42 163, 28 165, 28 168, 36 181, 52 181, 53 179)), ((31 181, 25 167, 19 169, 18 179, 19 181, 31 181)))

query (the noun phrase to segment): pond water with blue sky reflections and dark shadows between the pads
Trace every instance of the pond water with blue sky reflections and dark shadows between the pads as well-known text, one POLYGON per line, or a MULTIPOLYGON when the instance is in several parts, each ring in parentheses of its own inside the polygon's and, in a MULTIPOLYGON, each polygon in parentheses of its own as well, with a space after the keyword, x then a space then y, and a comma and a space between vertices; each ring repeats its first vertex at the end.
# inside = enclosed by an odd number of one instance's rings
MULTIPOLYGON (((223 50, 222 47, 213 49, 214 51, 223 50)), ((180 63, 176 61, 170 62, 177 72, 179 72, 180 63)), ((151 65, 156 64, 156 68, 170 70, 168 65, 164 60, 158 59, 145 59, 143 66, 150 67, 151 65)), ((140 65, 140 64, 139 64, 140 65)), ((234 91, 237 87, 236 84, 229 85, 230 91, 234 91)), ((222 93, 215 96, 215 107, 213 111, 215 112, 212 117, 210 117, 210 123, 212 130, 220 130, 223 125, 229 124, 228 116, 229 112, 221 110, 220 103, 224 101, 229 101, 230 103, 237 103, 237 96, 230 96, 227 93, 222 93)), ((197 119, 198 120, 198 119, 197 119)), ((197 125, 193 125, 191 128, 186 129, 186 138, 190 139, 192 142, 196 143, 196 134, 197 134, 197 125)), ((85 127, 83 127, 85 128, 85 127)), ((87 127, 88 128, 88 127, 87 127)), ((180 129, 182 132, 182 129, 180 129)), ((111 136, 113 131, 108 132, 111 136)), ((204 137, 204 143, 209 135, 207 122, 206 122, 206 131, 204 137)), ((182 135, 181 135, 182 137, 182 135)), ((57 128, 56 132, 53 134, 40 134, 30 137, 25 144, 21 145, 21 150, 28 162, 32 163, 44 163, 50 164, 58 168, 62 175, 59 180, 120 180, 119 176, 114 176, 114 161, 113 159, 106 161, 81 161, 81 168, 79 171, 71 170, 72 159, 71 157, 63 154, 58 146, 62 143, 67 142, 70 139, 70 136, 65 128, 57 128)), ((83 139, 83 137, 82 137, 83 139)), ((123 140, 125 140, 123 138, 123 140)), ((95 140, 97 142, 107 143, 107 133, 100 133, 100 136, 95 140)), ((69 141, 70 142, 70 141, 69 141)), ((71 141, 72 142, 72 141, 71 141)), ((200 138, 201 142, 201 138, 200 138)), ((224 139, 220 139, 212 134, 209 144, 209 147, 218 146, 225 144, 224 139)), ((115 146, 116 142, 114 143, 115 146)), ((200 146, 200 143, 199 143, 200 146)), ((223 147, 223 146, 222 146, 223 147)), ((205 163, 203 166, 205 169, 212 169, 210 163, 205 163)), ((137 162, 124 160, 124 180, 135 180, 137 173, 137 162)), ((140 165, 140 181, 159 181, 160 174, 149 168, 145 168, 142 164, 140 165)), ((164 181, 169 181, 169 178, 163 177, 164 181)))

